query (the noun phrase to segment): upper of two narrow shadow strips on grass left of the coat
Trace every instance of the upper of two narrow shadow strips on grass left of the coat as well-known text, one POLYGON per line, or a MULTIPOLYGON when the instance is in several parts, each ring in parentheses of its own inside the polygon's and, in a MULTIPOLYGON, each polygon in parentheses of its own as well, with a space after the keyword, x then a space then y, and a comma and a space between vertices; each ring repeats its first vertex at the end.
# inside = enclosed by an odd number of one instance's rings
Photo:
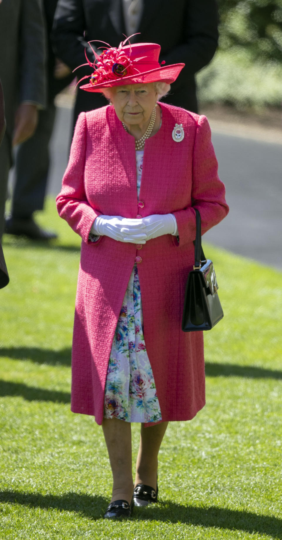
POLYGON ((70 366, 72 349, 70 347, 61 350, 40 349, 39 347, 8 347, 0 348, 1 356, 7 356, 13 360, 30 360, 50 366, 70 366))

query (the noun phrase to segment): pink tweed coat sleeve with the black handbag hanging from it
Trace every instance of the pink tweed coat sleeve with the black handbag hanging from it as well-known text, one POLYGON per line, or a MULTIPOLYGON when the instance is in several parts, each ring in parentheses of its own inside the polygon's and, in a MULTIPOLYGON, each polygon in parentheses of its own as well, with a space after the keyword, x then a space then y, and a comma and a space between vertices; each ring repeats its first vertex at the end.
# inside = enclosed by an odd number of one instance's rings
POLYGON ((196 215, 194 207, 201 214, 202 234, 219 223, 229 212, 225 201, 225 187, 217 174, 217 159, 208 120, 199 117, 193 150, 192 164, 192 206, 174 212, 177 220, 179 241, 181 246, 196 237, 196 215))

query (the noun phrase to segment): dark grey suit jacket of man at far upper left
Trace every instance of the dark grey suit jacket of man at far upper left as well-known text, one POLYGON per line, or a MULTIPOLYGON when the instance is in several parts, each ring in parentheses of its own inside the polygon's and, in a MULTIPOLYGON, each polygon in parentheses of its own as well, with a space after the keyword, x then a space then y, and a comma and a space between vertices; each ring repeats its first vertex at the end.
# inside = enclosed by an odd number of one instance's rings
POLYGON ((41 0, 0 4, 0 78, 11 137, 18 103, 45 106, 45 35, 41 0))

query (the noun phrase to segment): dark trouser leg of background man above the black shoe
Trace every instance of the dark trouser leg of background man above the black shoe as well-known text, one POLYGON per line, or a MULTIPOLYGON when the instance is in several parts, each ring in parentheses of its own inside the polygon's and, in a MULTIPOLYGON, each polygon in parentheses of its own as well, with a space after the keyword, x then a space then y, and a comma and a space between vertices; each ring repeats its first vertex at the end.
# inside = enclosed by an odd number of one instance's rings
POLYGON ((55 105, 39 111, 33 136, 19 145, 15 163, 15 185, 12 196, 12 218, 29 218, 42 210, 50 165, 49 143, 55 120, 55 105))

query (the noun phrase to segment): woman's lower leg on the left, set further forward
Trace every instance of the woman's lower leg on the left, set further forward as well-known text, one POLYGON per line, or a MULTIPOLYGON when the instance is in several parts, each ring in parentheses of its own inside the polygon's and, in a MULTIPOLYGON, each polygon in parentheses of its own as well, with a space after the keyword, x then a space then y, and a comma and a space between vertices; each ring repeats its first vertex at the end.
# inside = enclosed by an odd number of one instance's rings
POLYGON ((111 502, 123 499, 130 504, 133 494, 130 422, 104 419, 102 428, 113 478, 111 502))

